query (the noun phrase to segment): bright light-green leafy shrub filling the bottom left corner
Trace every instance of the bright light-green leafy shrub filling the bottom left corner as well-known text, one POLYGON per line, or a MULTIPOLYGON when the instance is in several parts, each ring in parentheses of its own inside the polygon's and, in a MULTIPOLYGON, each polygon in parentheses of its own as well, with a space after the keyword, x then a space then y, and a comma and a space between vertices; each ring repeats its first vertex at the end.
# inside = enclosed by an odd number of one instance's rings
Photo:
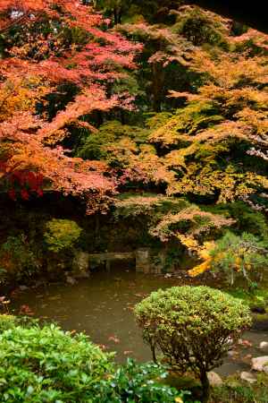
POLYGON ((0 396, 3 402, 83 402, 94 396, 96 382, 113 369, 84 335, 54 325, 16 327, 0 334, 0 396))

